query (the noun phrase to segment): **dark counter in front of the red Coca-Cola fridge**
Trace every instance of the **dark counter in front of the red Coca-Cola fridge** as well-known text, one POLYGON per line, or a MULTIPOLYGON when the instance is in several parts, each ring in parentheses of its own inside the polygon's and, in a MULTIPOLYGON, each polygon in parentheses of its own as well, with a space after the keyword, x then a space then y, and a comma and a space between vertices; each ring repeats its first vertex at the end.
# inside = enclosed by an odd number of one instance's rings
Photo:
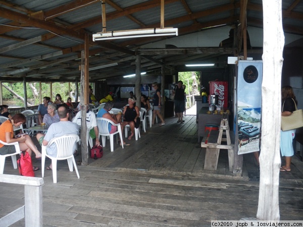
POLYGON ((198 112, 198 143, 201 141, 201 137, 206 136, 205 125, 215 124, 220 125, 222 115, 208 115, 206 112, 208 107, 202 107, 198 112))

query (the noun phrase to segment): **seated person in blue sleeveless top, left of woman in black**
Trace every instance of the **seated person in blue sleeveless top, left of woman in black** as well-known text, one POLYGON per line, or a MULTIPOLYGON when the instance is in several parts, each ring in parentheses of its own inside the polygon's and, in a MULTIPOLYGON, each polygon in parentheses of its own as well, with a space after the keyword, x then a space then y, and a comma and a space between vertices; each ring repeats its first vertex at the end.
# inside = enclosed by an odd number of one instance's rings
MULTIPOLYGON (((109 101, 109 102, 105 103, 104 107, 98 111, 97 118, 106 118, 106 119, 111 120, 115 124, 120 123, 121 120, 122 120, 121 112, 119 112, 117 115, 109 113, 109 111, 111 111, 113 106, 114 106, 114 103, 112 101, 109 101)), ((111 127, 111 128, 109 128, 110 134, 117 131, 117 126, 113 126, 113 125, 110 124, 109 127, 111 127)), ((120 142, 120 146, 121 146, 121 143, 122 142, 120 142)), ((124 146, 129 146, 130 144, 123 141, 123 145, 124 146)))

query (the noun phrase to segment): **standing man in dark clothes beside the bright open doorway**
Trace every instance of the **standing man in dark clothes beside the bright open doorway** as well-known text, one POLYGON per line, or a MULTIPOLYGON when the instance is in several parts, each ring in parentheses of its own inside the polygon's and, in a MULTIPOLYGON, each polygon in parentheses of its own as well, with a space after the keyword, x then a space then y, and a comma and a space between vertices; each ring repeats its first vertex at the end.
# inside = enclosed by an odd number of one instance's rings
POLYGON ((184 112, 184 89, 182 87, 183 82, 181 80, 178 81, 178 85, 176 85, 173 95, 175 96, 175 112, 178 116, 177 123, 183 124, 183 112, 184 112))

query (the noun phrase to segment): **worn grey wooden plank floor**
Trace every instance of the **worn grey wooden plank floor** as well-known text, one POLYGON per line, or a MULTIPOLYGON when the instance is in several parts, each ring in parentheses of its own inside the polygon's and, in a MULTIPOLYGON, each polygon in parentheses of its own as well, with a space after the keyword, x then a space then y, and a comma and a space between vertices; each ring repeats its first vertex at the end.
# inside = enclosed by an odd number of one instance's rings
MULTIPOLYGON (((43 223, 45 226, 210 226, 211 220, 256 217, 259 169, 252 154, 244 155, 243 177, 228 171, 227 151, 221 150, 217 171, 205 171, 205 149, 197 142, 195 116, 165 119, 126 139, 122 149, 110 143, 101 159, 78 165, 80 179, 58 163, 58 183, 45 171, 43 223)), ((80 155, 76 157, 80 163, 80 155)), ((41 163, 33 159, 34 165, 41 163)), ((49 160, 47 161, 49 164, 49 160)), ((296 157, 292 171, 280 174, 280 219, 303 219, 303 163, 296 157)), ((41 171, 35 172, 41 177, 41 171)), ((4 174, 19 175, 11 160, 4 174)), ((0 216, 24 204, 19 185, 0 185, 0 216)), ((20 220, 13 226, 23 226, 20 220)))

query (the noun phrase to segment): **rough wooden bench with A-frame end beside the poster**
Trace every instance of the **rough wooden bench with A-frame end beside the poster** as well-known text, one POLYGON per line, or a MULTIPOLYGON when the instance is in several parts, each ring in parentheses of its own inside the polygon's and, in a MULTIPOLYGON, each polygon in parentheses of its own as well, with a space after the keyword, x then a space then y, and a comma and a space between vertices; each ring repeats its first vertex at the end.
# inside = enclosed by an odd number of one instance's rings
POLYGON ((206 148, 204 169, 216 170, 220 149, 228 150, 229 171, 233 172, 234 165, 234 132, 229 130, 227 119, 221 120, 219 131, 208 131, 207 136, 203 137, 201 147, 206 148), (226 144, 222 144, 226 142, 226 144))

